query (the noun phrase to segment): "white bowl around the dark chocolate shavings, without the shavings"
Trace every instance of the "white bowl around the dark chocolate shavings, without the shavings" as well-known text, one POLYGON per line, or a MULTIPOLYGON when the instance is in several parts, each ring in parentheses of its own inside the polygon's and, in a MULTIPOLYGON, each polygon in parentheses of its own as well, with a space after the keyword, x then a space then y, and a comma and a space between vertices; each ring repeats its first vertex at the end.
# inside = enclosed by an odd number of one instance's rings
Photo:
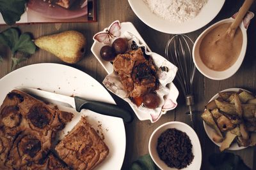
POLYGON ((164 170, 176 170, 175 168, 168 167, 163 160, 161 160, 157 153, 157 139, 159 136, 166 131, 167 129, 175 128, 179 131, 186 132, 186 134, 189 136, 189 139, 191 140, 191 144, 193 145, 192 152, 195 156, 192 160, 191 164, 187 166, 186 168, 182 169, 193 169, 198 170, 201 167, 202 163, 202 151, 200 146, 200 141, 198 139, 198 136, 196 135, 196 132, 187 124, 184 124, 183 122, 167 122, 163 125, 160 125, 157 127, 157 129, 151 134, 149 143, 148 143, 148 150, 150 153, 150 156, 152 160, 155 162, 155 164, 160 168, 164 170))

